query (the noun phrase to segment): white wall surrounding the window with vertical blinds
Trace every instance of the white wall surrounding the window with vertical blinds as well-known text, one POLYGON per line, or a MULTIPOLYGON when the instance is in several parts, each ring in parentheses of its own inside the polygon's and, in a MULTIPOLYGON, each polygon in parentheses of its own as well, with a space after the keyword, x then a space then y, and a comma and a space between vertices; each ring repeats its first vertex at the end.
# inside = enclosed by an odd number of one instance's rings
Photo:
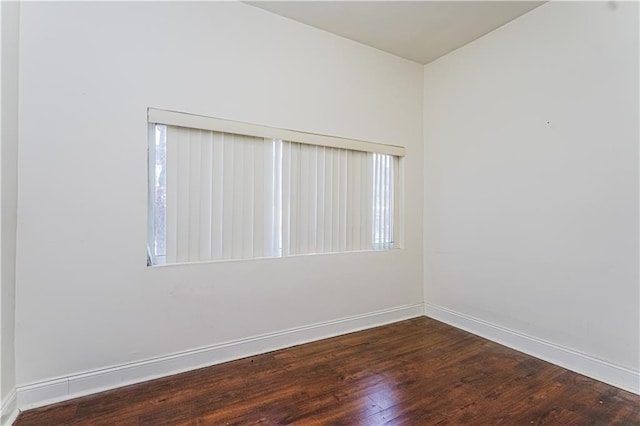
POLYGON ((421 66, 235 2, 21 14, 19 386, 422 303, 421 66), (149 106, 406 146, 406 249, 147 268, 149 106))

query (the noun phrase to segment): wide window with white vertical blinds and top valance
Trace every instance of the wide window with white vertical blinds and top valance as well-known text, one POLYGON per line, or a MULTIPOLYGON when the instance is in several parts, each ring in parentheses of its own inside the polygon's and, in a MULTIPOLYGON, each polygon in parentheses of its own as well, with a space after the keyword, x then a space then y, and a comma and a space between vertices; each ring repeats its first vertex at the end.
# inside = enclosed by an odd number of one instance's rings
POLYGON ((397 247, 403 154, 149 109, 147 263, 397 247))

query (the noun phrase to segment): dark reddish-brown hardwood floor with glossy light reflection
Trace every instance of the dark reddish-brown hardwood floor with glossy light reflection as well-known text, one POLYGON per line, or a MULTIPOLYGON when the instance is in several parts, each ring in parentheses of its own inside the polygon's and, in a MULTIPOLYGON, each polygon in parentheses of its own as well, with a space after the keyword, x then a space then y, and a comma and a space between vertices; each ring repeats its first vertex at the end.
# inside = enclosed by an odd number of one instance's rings
POLYGON ((16 425, 640 425, 640 397, 425 317, 21 413, 16 425))

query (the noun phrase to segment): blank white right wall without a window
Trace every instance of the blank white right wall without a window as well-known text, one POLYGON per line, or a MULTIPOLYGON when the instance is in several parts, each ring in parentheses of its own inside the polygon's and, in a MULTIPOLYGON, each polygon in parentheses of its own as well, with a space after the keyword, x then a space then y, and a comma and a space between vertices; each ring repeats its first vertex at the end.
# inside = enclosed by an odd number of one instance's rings
POLYGON ((636 392, 638 75, 637 2, 547 3, 424 73, 427 311, 636 392))

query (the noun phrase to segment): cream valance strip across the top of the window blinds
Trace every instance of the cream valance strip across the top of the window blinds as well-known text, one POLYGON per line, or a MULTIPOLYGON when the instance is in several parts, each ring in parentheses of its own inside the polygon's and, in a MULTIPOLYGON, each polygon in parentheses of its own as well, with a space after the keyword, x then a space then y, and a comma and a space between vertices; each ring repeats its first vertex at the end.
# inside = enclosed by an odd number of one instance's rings
POLYGON ((187 114, 184 112, 148 108, 147 117, 149 123, 168 124, 171 126, 190 127, 192 129, 234 133, 238 135, 255 136, 268 139, 281 139, 308 145, 329 146, 355 151, 377 152, 380 154, 389 154, 398 157, 405 155, 405 148, 402 146, 339 138, 336 136, 317 135, 315 133, 305 133, 295 130, 278 129, 275 127, 242 123, 240 121, 223 120, 220 118, 187 114))

